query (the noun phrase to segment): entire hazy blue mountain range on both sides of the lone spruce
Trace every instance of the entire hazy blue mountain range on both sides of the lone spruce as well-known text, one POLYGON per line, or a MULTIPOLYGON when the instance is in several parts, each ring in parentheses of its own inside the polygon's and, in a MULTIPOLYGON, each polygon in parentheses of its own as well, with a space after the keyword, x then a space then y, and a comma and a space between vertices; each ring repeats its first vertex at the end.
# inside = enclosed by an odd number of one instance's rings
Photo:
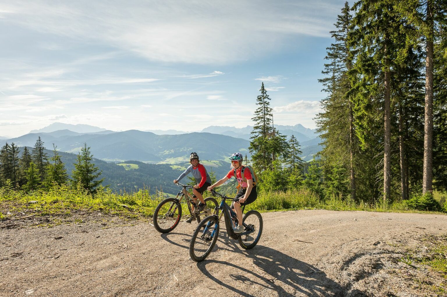
MULTIPOLYGON (((275 127, 284 135, 295 135, 303 151, 301 157, 305 161, 320 151, 321 139, 315 130, 300 124, 275 127)), ((51 148, 51 143, 54 143, 59 151, 72 153, 79 152, 85 142, 98 159, 173 164, 187 160, 192 151, 204 160, 227 161, 228 155, 236 151, 250 156, 248 147, 252 129, 252 126, 209 126, 201 132, 192 133, 177 130, 152 130, 157 133, 139 130, 114 132, 90 125, 54 123, 6 141, 14 142, 17 146, 34 146, 40 136, 47 148, 51 148)))

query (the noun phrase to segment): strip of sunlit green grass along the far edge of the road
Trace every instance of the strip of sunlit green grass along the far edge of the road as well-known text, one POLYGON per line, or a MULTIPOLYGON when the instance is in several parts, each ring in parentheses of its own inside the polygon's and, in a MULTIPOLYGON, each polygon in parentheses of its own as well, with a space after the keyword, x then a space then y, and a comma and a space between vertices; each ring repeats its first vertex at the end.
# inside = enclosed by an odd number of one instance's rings
MULTIPOLYGON (((209 194, 205 192, 204 197, 208 196, 209 194)), ((4 187, 0 188, 0 220, 21 216, 20 212, 24 210, 32 212, 37 216, 65 216, 74 210, 86 212, 100 210, 103 213, 129 218, 152 217, 156 206, 166 197, 174 196, 163 192, 150 194, 148 189, 140 189, 137 192, 114 193, 110 189, 101 188, 97 194, 92 195, 84 189, 72 189, 67 186, 32 192, 4 187)), ((405 203, 387 205, 383 202, 377 202, 368 204, 340 197, 320 200, 307 189, 287 192, 260 192, 257 200, 247 205, 246 210, 249 209, 256 209, 259 212, 328 209, 338 211, 438 213, 414 210, 405 203)), ((188 213, 186 205, 183 205, 183 213, 188 213)))

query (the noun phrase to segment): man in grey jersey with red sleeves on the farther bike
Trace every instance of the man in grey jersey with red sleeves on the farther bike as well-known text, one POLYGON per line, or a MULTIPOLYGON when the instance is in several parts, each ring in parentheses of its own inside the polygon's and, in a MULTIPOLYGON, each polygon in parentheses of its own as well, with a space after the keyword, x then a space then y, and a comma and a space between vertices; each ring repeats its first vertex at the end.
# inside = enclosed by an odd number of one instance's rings
MULTIPOLYGON (((209 176, 207 169, 205 169, 205 166, 200 164, 197 153, 191 153, 190 163, 191 165, 186 168, 185 172, 183 172, 177 178, 177 180, 174 180, 174 184, 177 184, 182 178, 192 172, 197 182, 193 189, 193 199, 194 203, 197 203, 197 198, 200 201, 200 203, 197 205, 197 212, 200 212, 205 208, 206 205, 205 200, 203 200, 202 193, 205 192, 207 190, 207 187, 211 185, 211 177, 209 176)), ((194 213, 194 205, 192 206, 192 210, 194 213)), ((186 222, 190 223, 192 219, 193 217, 189 218, 186 222)))

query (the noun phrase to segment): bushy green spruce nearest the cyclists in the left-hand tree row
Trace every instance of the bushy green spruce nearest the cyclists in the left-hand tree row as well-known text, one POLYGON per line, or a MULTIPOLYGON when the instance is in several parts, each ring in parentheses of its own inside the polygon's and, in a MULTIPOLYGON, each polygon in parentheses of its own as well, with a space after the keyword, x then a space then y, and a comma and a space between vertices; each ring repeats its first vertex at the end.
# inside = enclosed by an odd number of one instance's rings
POLYGON ((77 163, 73 163, 75 169, 72 171, 71 181, 74 188, 80 185, 82 188, 94 192, 96 187, 104 181, 104 178, 95 180, 101 176, 102 171, 95 167, 95 164, 91 162, 92 159, 93 155, 90 154, 90 147, 87 146, 87 143, 84 143, 77 155, 77 163))

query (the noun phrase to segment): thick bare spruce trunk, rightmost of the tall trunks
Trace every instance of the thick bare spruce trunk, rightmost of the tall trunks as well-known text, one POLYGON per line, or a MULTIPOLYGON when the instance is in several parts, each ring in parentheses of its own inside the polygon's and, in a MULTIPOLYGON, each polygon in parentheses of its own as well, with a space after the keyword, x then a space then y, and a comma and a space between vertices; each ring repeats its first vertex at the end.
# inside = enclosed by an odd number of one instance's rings
POLYGON ((424 122, 424 169, 422 193, 432 192, 433 181, 433 4, 427 1, 426 70, 425 70, 425 122, 424 122))

